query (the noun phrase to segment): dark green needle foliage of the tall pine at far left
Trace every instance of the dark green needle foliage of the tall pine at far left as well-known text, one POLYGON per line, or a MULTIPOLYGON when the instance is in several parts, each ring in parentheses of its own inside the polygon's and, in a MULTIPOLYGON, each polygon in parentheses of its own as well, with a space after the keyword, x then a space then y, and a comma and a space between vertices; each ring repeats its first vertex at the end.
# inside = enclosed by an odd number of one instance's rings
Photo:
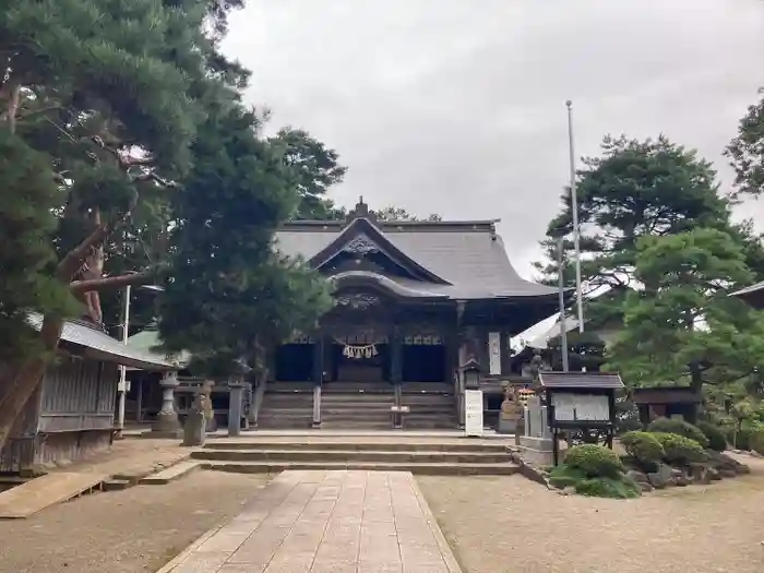
MULTIPOLYGON (((29 213, 36 210, 27 219, 34 242, 38 250, 55 252, 59 259, 102 224, 119 229, 107 236, 103 250, 96 244, 79 261, 79 270, 74 261, 72 268, 61 268, 57 277, 55 261, 46 253, 27 253, 22 272, 29 279, 45 282, 46 290, 58 291, 56 298, 63 296, 72 278, 97 279, 102 268, 117 276, 157 263, 146 256, 145 247, 147 234, 160 235, 170 224, 167 212, 147 216, 167 203, 166 186, 159 182, 177 181, 188 174, 189 147, 205 115, 205 94, 240 85, 247 75, 217 50, 227 13, 240 3, 3 3, 0 131, 24 142, 29 158, 28 167, 21 168, 34 170, 35 176, 27 179, 24 193, 7 193, 1 208, 17 208, 15 202, 29 213), (31 189, 31 184, 39 187, 31 189), (130 222, 124 223, 128 211, 130 222), (122 264, 128 251, 133 256, 122 264)), ((10 189, 13 176, 8 174, 8 180, 4 176, 0 174, 0 183, 10 189)), ((21 267, 10 260, 0 260, 0 267, 9 286, 16 283, 9 273, 21 267)), ((15 289, 14 295, 3 297, 3 303, 50 310, 44 300, 32 300, 22 293, 23 288, 15 289)), ((98 300, 91 302, 95 305, 91 318, 99 320, 98 300)), ((53 307, 64 314, 81 310, 73 305, 53 307)), ((5 331, 5 325, 0 330, 5 331)), ((8 332, 12 332, 10 325, 8 332)), ((1 336, 0 346, 7 346, 5 335, 1 336)))

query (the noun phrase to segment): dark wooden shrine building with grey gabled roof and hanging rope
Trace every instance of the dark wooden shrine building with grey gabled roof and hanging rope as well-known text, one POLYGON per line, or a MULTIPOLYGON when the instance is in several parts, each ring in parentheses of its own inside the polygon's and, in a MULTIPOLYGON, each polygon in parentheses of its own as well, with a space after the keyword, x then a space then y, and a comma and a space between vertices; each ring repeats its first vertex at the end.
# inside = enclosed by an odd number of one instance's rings
POLYGON ((510 338, 553 314, 558 290, 521 278, 497 223, 382 222, 361 199, 345 220, 285 224, 277 250, 326 276, 335 306, 270 358, 252 421, 390 428, 405 406, 409 428, 456 428, 470 359, 500 403, 510 338))

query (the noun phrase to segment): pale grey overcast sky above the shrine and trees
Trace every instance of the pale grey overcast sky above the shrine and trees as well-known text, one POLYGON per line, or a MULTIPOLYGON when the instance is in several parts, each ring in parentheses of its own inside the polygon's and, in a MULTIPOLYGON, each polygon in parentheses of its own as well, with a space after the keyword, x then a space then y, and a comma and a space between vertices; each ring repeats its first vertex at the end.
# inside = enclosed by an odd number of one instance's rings
MULTIPOLYGON (((249 0, 226 51, 273 126, 310 131, 372 208, 501 218, 530 278, 576 151, 666 133, 721 157, 764 85, 762 0, 249 0)), ((753 211, 764 222, 764 204, 753 211)))

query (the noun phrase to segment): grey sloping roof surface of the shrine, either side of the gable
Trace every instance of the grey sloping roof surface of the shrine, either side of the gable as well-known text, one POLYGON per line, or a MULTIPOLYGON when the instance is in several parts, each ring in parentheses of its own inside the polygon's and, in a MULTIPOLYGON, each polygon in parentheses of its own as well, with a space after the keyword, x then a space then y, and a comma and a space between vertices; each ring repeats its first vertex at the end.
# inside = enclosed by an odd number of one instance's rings
MULTIPOLYGON (((522 278, 510 263, 501 238, 490 225, 453 222, 420 225, 378 225, 397 249, 452 285, 428 290, 454 299, 554 296, 557 289, 522 278), (442 228, 443 230, 439 230, 442 228)), ((337 225, 293 223, 276 234, 276 248, 308 260, 342 232, 337 225)))

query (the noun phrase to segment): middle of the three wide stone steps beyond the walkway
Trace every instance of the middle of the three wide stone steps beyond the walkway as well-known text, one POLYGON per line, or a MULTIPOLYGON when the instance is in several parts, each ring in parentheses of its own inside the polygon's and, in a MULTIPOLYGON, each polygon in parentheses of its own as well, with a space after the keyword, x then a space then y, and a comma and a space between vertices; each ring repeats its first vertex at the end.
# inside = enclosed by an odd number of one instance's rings
POLYGON ((195 461, 204 459, 210 462, 415 462, 428 464, 502 464, 512 461, 512 455, 509 452, 390 452, 373 450, 334 450, 329 452, 323 450, 199 450, 193 452, 191 457, 195 461))

